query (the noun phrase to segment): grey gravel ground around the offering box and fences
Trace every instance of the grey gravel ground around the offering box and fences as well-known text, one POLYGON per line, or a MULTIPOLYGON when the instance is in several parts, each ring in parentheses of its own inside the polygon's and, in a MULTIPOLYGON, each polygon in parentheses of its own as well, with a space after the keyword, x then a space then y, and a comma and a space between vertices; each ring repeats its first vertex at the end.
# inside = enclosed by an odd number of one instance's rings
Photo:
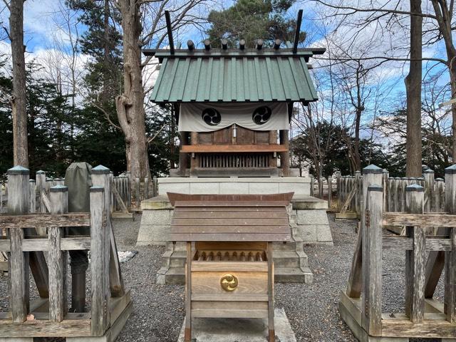
MULTIPOLYGON (((346 287, 356 242, 356 222, 335 222, 333 215, 329 221, 334 246, 305 247, 314 284, 276 284, 276 307, 285 309, 299 342, 356 341, 338 314, 339 294, 346 287)), ((114 224, 118 249, 139 252, 122 268, 134 306, 118 341, 175 342, 185 316, 184 286, 155 284, 164 248, 135 247, 139 222, 140 217, 135 217, 134 222, 116 220, 114 224)), ((404 259, 403 252, 383 255, 383 312, 403 311, 404 259)), ((6 286, 6 277, 0 276, 1 311, 8 308, 6 286)), ((442 284, 436 297, 442 297, 442 284)))

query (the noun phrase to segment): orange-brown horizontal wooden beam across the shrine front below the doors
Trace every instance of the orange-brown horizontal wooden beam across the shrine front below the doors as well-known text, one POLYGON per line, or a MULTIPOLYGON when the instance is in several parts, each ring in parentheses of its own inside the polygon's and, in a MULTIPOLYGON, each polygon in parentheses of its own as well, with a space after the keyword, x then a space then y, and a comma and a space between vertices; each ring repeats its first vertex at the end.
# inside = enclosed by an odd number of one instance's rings
POLYGON ((286 145, 184 145, 181 153, 288 152, 286 145))

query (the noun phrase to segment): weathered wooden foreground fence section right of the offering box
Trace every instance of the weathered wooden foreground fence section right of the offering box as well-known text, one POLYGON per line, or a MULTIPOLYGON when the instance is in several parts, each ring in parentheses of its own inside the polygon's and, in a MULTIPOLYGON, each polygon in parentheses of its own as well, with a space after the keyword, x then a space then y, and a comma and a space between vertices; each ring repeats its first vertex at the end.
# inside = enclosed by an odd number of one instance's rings
MULTIPOLYGON (((363 213, 361 229, 358 232, 348 286, 341 293, 341 317, 360 341, 409 341, 409 338, 455 341, 456 165, 445 170, 447 188, 444 209, 448 214, 423 214, 426 193, 425 187, 418 184, 423 180, 407 185, 403 195, 398 197, 405 197, 401 207, 403 212, 385 212, 385 204, 388 203, 385 200, 388 198, 385 188, 388 187, 381 185, 384 172, 376 167, 366 169, 363 170, 361 190, 362 198, 365 199, 360 203, 363 213), (405 226, 406 236, 383 236, 385 226, 405 226), (427 227, 437 227, 437 235, 426 234, 427 227), (405 252, 403 313, 390 314, 382 311, 382 258, 387 249, 405 252), (433 296, 443 269, 444 298, 437 301, 433 296)), ((402 186, 399 188, 402 191, 402 186)), ((432 199, 429 194, 427 196, 432 199)), ((427 202, 427 206, 427 209, 432 208, 432 202, 427 202)), ((395 291, 395 294, 398 293, 400 291, 395 291)))

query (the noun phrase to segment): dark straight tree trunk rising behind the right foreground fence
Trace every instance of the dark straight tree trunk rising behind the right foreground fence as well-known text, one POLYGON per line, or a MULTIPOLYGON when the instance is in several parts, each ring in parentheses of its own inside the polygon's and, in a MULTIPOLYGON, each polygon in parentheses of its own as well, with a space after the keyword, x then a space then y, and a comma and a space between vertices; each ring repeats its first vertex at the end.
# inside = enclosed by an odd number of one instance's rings
MULTIPOLYGON (((421 13, 421 0, 410 0, 410 11, 421 13)), ((407 92, 407 177, 421 177, 421 79, 423 17, 410 15, 410 71, 405 78, 407 92)))

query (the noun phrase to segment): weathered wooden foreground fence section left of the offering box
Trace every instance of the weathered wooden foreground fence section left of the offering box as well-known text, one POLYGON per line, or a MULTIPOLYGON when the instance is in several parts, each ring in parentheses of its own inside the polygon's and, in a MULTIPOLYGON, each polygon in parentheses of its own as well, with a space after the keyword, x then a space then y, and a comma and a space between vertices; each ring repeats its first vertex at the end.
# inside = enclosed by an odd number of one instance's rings
MULTIPOLYGON (((9 256, 11 284, 7 294, 9 312, 0 313, 0 336, 21 341, 88 336, 104 336, 100 341, 115 340, 132 306, 130 291, 123 286, 111 224, 109 169, 92 170, 90 214, 68 213, 68 188, 63 185, 49 187, 48 194, 41 193, 50 214, 30 214, 35 197, 31 196, 28 178, 24 167, 9 170, 9 216, 0 215, 0 227, 7 232, 0 239, 0 252, 9 256), (66 236, 65 227, 90 227, 90 236, 66 236), (38 229, 44 234, 39 234, 38 229), (90 249, 88 314, 68 312, 68 251, 81 249, 90 249), (50 267, 44 253, 48 254, 50 267), (40 297, 36 301, 30 301, 29 269, 40 297)), ((41 185, 43 177, 37 180, 41 185)))

